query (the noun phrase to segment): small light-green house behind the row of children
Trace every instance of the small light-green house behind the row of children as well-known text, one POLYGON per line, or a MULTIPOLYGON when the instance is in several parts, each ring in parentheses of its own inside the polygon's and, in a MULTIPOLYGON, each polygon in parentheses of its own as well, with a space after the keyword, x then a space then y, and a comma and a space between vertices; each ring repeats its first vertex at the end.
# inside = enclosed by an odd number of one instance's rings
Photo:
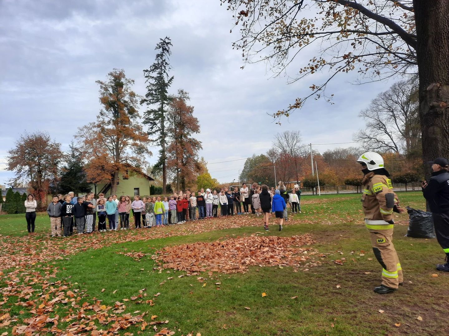
MULTIPOLYGON (((128 170, 123 174, 119 172, 119 181, 117 182, 117 197, 122 195, 131 196, 140 195, 148 196, 150 195, 150 184, 154 181, 154 178, 141 172, 138 168, 129 167, 128 170)), ((98 194, 105 194, 106 196, 110 194, 111 183, 108 181, 100 183, 91 183, 91 191, 97 196, 98 194)))

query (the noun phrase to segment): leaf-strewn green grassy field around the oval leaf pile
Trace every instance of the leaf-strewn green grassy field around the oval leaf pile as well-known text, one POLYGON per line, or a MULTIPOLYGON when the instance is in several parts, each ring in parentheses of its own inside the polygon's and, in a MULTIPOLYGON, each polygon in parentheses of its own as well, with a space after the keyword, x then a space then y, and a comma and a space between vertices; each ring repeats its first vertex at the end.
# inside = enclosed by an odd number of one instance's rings
MULTIPOLYGON (((424 207, 421 193, 399 197, 424 207)), ((397 216, 394 234, 404 286, 380 296, 372 289, 382 269, 361 224, 360 194, 303 197, 301 210, 282 232, 275 225, 262 232, 261 218, 242 215, 65 239, 49 237, 46 215, 38 215, 32 237, 24 215, 2 215, 0 335, 157 335, 163 328, 161 335, 449 335, 449 274, 435 270, 444 254, 435 239, 405 237, 406 214, 397 216), (306 233, 315 243, 305 247, 317 250, 307 262, 317 266, 188 276, 152 258, 166 246, 306 233)))

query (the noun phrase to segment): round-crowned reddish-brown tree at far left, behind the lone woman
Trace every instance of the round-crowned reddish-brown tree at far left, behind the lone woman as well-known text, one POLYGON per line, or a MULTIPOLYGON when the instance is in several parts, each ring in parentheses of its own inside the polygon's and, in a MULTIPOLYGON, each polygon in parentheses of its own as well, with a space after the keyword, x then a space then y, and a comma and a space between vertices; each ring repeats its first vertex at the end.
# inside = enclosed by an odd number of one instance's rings
POLYGON ((52 140, 47 132, 22 134, 8 151, 8 170, 16 174, 10 184, 30 182, 30 191, 40 206, 48 194, 49 185, 57 184, 58 165, 63 157, 61 144, 52 140))

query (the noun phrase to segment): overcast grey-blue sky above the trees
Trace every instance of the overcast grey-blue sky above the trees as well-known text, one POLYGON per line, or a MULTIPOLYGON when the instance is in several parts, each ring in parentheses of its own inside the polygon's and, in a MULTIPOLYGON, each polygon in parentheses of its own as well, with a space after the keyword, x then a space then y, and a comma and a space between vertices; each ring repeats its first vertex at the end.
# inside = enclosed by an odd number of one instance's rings
MULTIPOLYGON (((0 0, 0 184, 13 176, 6 155, 24 131, 48 131, 67 149, 77 128, 100 110, 95 81, 113 68, 124 69, 144 95, 142 69, 154 62, 154 47, 165 36, 173 43, 170 92, 189 92, 201 125, 199 156, 220 182, 237 179, 245 160, 212 163, 265 153, 278 132, 300 130, 305 143, 351 142, 364 125, 359 111, 392 84, 355 86, 355 74, 337 76, 328 87, 334 105, 310 100, 276 125, 268 113, 307 95, 327 74, 287 85, 265 64, 242 70, 242 52, 232 48, 238 30, 230 34, 231 28, 232 13, 220 0, 0 0)), ((294 74, 314 49, 309 52, 288 71, 294 74)))

